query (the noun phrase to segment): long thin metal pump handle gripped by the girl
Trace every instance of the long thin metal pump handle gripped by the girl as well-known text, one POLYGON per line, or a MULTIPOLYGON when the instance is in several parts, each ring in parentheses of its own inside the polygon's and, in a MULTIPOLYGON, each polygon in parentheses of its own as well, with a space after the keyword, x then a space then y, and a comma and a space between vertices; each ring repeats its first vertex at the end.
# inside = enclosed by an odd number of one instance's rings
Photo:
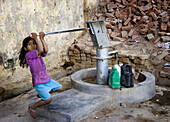
MULTIPOLYGON (((59 34, 59 33, 66 33, 66 32, 73 32, 73 31, 82 31, 82 30, 89 30, 90 28, 81 27, 81 28, 72 28, 72 29, 66 29, 66 30, 58 30, 58 31, 49 31, 45 32, 45 35, 52 35, 52 34, 59 34)), ((31 36, 31 35, 30 35, 31 36)), ((39 33, 37 33, 37 36, 39 36, 39 33)))

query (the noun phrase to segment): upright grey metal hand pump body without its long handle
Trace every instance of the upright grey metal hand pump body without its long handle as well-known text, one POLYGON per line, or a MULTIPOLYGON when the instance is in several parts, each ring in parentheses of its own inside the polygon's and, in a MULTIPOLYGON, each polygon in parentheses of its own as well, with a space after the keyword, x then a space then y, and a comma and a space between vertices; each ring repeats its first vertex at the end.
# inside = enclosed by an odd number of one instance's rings
POLYGON ((108 78, 108 48, 110 46, 109 37, 104 21, 89 21, 87 22, 90 36, 94 47, 96 47, 97 57, 97 84, 106 85, 108 78))

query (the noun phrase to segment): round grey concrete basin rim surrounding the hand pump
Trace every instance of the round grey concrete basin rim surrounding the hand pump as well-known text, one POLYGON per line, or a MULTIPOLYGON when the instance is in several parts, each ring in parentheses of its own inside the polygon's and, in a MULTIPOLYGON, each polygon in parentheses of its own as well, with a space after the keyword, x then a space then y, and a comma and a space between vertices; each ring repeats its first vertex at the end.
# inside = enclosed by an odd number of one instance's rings
POLYGON ((121 89, 83 81, 93 77, 96 77, 96 68, 77 71, 71 75, 72 87, 88 94, 110 96, 116 103, 143 102, 155 96, 155 77, 149 72, 141 72, 134 87, 121 89))

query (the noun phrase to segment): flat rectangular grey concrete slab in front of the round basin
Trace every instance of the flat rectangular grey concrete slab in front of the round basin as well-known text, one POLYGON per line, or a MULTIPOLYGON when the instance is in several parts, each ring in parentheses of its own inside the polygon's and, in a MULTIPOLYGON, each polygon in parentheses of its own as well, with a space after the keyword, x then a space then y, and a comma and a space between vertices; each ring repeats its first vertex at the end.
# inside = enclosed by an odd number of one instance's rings
POLYGON ((37 108, 37 115, 56 122, 75 122, 111 103, 111 98, 70 89, 55 94, 50 104, 37 108))

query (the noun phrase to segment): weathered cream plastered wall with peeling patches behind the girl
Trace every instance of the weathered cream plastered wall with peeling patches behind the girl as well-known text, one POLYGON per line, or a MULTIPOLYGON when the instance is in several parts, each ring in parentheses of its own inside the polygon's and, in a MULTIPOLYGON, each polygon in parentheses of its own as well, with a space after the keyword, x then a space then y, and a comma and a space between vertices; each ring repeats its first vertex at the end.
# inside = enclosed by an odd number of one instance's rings
MULTIPOLYGON (((20 68, 17 60, 22 40, 26 36, 31 32, 84 27, 85 22, 94 16, 96 2, 97 0, 0 0, 0 94, 4 89, 4 94, 7 94, 7 87, 11 87, 12 91, 15 87, 11 85, 14 83, 18 86, 23 82, 31 83, 29 70, 20 68)), ((60 70, 69 60, 68 47, 81 33, 45 37, 49 53, 44 61, 49 72, 60 70)), ((27 86, 29 87, 23 88, 30 89, 30 85, 27 86)), ((8 95, 4 96, 8 98, 8 95)))

